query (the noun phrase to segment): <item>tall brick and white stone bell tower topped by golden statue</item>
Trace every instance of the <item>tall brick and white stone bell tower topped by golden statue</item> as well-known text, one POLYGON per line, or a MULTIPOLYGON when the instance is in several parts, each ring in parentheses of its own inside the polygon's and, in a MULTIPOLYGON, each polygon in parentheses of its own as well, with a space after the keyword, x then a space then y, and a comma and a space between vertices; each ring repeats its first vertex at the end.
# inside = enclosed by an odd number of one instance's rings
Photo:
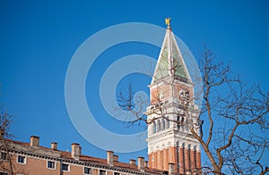
MULTIPOLYGON (((187 71, 177 41, 166 19, 167 29, 150 87, 151 105, 145 114, 148 121, 148 156, 151 168, 175 174, 199 174, 199 142, 190 132, 198 120, 194 84, 187 71)), ((199 127, 195 125, 195 132, 199 127)))

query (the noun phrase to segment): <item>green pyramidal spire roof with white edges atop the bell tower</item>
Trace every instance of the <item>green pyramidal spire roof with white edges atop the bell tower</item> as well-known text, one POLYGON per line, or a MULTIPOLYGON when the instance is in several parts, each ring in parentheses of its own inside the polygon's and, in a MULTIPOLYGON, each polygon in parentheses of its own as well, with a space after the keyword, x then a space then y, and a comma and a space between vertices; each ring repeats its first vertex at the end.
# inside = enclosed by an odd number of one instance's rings
POLYGON ((161 52, 152 78, 152 84, 161 82, 164 79, 169 79, 170 77, 183 82, 192 82, 174 34, 172 30, 168 28, 161 46, 161 52))

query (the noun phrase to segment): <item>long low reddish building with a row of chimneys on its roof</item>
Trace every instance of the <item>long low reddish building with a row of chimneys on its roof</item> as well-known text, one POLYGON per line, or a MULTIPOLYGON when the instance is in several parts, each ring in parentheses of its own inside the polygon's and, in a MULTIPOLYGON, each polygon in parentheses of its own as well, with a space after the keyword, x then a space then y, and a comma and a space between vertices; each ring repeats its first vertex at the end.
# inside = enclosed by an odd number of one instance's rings
POLYGON ((39 146, 39 137, 30 137, 30 143, 9 139, 0 142, 1 175, 154 175, 163 171, 150 169, 143 157, 137 162, 118 162, 118 156, 107 152, 107 159, 82 154, 79 144, 72 144, 71 152, 51 147, 39 146))

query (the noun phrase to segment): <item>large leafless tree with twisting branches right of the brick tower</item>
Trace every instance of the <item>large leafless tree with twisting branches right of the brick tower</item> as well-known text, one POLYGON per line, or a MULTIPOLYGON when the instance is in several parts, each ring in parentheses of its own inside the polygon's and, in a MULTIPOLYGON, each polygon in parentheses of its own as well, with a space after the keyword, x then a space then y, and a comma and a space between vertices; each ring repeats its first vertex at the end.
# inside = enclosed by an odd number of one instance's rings
MULTIPOLYGON (((239 76, 230 71, 230 64, 216 63, 215 55, 206 47, 201 55, 199 66, 202 79, 199 80, 203 82, 203 103, 199 117, 195 121, 174 122, 186 126, 203 147, 210 162, 204 164, 204 173, 269 172, 266 159, 269 155, 269 92, 264 92, 258 85, 244 84, 239 76)), ((157 118, 149 121, 141 115, 141 109, 144 103, 158 104, 154 112, 158 113, 159 118, 166 119, 168 113, 161 105, 160 95, 161 92, 155 96, 156 102, 144 102, 143 98, 134 99, 132 86, 129 86, 125 93, 121 91, 117 95, 117 100, 122 110, 136 116, 132 124, 138 121, 151 124, 157 118), (139 103, 134 103, 134 100, 139 103)), ((183 102, 179 107, 185 112, 178 113, 178 116, 188 119, 188 104, 195 98, 179 100, 183 102)))

